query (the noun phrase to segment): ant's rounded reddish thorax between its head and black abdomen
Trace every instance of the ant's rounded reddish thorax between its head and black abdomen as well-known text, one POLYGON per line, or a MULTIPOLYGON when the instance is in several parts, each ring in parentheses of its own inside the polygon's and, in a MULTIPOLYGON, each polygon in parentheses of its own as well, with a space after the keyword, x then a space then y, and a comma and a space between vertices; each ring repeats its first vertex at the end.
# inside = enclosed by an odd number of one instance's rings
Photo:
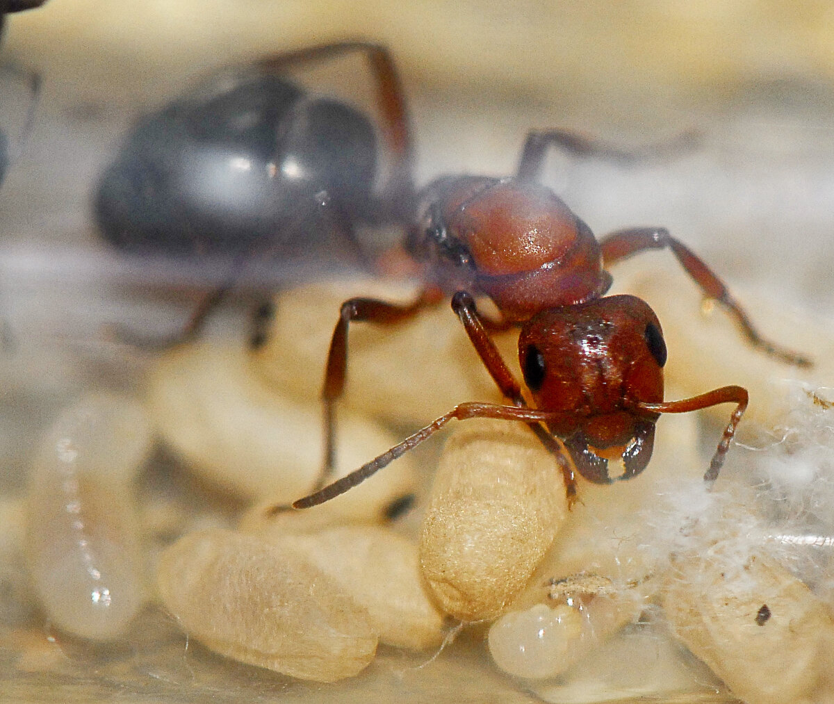
POLYGON ((439 179, 426 190, 412 234, 446 288, 488 295, 506 319, 605 293, 600 245, 544 186, 516 179, 439 179))

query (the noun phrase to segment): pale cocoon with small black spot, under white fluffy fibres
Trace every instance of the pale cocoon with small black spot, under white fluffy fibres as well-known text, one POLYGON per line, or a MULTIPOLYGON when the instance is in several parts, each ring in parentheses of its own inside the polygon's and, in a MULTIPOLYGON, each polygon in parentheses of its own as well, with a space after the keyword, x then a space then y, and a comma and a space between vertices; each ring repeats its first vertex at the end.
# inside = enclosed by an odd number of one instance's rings
POLYGON ((749 704, 811 696, 834 623, 805 584, 766 555, 740 556, 732 543, 681 556, 675 567, 666 615, 736 696, 749 704))

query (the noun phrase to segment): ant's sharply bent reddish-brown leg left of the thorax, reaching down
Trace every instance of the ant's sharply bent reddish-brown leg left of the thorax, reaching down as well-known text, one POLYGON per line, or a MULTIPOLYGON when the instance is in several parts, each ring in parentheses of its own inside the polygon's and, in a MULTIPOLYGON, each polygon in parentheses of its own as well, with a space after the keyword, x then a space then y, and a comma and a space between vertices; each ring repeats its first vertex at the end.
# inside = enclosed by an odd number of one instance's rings
POLYGON ((369 322, 395 324, 413 318, 421 309, 438 302, 439 292, 426 289, 414 301, 406 305, 387 303, 378 299, 355 298, 346 300, 339 311, 339 321, 330 338, 327 363, 324 367, 324 386, 321 398, 324 403, 324 467, 317 486, 332 473, 335 465, 335 403, 344 394, 348 364, 348 327, 350 323, 369 322))

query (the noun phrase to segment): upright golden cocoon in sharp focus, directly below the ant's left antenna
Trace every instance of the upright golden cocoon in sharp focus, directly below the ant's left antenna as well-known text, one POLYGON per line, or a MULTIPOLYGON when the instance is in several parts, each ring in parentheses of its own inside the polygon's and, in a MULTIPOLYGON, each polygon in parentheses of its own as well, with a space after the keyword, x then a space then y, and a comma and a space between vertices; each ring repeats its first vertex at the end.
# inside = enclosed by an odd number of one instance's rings
POLYGON ((553 455, 524 424, 465 420, 440 457, 420 565, 441 608, 492 619, 524 589, 567 515, 553 455))

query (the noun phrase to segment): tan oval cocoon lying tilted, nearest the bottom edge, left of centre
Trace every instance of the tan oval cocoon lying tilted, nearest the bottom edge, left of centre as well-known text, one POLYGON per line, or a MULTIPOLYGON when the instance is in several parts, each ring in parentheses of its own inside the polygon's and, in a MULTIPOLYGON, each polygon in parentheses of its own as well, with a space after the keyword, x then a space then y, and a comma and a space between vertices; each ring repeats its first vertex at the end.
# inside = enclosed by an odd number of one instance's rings
POLYGON ((158 588, 188 636, 234 660, 327 682, 374 659, 368 612, 286 546, 194 532, 163 553, 158 588))

